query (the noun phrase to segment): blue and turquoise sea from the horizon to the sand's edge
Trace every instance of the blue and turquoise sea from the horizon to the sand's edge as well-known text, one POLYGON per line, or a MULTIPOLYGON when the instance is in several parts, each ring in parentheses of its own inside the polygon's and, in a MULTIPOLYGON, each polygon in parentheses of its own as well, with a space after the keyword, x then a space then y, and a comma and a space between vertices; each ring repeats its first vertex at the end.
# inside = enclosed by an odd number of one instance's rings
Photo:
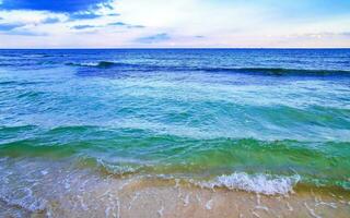
POLYGON ((47 159, 349 190, 349 62, 347 49, 0 50, 0 174, 47 159))

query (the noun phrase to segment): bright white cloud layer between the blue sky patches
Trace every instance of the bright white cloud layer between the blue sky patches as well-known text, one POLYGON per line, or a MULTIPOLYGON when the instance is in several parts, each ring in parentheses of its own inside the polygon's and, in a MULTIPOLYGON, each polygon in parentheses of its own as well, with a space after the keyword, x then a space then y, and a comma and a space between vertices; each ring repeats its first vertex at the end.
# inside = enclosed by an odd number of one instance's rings
POLYGON ((9 36, 0 47, 349 47, 350 13, 317 19, 285 19, 283 11, 252 1, 116 0, 103 16, 72 20, 65 13, 1 11, 0 23, 25 24, 21 31, 47 36, 9 36), (117 13, 119 16, 109 16, 117 13), (43 23, 58 19, 58 23, 43 23), (108 25, 124 22, 127 25, 108 25), (74 29, 85 25, 92 28, 74 29), (165 33, 168 40, 138 44, 137 38, 165 33), (325 34, 328 33, 328 34, 325 34), (196 37, 205 36, 205 37, 196 37))

